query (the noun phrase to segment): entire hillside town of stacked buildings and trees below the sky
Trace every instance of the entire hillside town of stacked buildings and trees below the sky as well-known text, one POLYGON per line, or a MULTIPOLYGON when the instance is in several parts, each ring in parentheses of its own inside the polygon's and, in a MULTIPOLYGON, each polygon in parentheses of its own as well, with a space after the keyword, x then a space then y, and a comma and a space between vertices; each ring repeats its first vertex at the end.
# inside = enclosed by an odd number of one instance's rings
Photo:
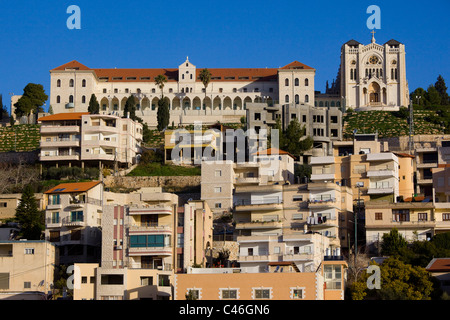
POLYGON ((0 299, 450 299, 445 80, 374 34, 325 92, 299 61, 49 66, 2 109, 0 299))

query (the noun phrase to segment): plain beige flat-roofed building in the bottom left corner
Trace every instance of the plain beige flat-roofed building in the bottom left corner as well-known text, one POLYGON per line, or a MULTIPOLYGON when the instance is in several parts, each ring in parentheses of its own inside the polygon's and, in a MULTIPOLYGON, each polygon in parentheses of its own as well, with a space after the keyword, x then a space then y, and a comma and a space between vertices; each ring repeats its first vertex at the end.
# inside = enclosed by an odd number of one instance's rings
POLYGON ((57 248, 48 241, 0 241, 0 299, 45 300, 57 264, 57 248))

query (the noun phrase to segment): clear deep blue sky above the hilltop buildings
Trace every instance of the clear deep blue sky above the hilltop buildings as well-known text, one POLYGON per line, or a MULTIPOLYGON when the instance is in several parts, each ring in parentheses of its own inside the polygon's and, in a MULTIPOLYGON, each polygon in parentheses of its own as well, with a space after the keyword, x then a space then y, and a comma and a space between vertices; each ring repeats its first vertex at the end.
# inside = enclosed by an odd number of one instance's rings
MULTIPOLYGON (((0 0, 0 94, 30 82, 50 94, 49 70, 71 60, 91 68, 279 67, 298 60, 316 68, 316 90, 336 77, 340 48, 370 43, 369 5, 381 9, 377 43, 406 45, 410 91, 450 87, 449 0, 430 1, 86 1, 0 0), (69 30, 70 5, 81 30, 69 30)), ((450 90, 449 90, 450 91, 450 90)), ((48 107, 48 104, 47 104, 48 107)))

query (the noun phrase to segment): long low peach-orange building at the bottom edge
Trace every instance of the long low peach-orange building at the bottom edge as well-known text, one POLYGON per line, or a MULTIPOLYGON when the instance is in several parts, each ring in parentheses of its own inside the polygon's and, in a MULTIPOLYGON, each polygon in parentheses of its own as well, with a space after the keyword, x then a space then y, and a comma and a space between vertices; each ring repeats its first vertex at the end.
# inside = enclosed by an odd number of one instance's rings
POLYGON ((174 299, 191 294, 198 300, 343 300, 345 267, 344 261, 323 261, 302 273, 193 268, 175 275, 174 299))

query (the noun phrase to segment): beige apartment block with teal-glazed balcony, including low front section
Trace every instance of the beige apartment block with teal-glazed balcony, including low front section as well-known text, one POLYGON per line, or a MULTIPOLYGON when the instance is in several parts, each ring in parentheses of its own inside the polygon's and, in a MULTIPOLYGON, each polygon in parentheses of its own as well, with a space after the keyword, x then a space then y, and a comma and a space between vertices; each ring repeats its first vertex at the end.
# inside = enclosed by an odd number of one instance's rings
POLYGON ((179 210, 178 196, 161 188, 105 192, 104 201, 101 263, 76 265, 75 299, 172 299, 174 273, 206 264, 212 215, 205 202, 179 210))

